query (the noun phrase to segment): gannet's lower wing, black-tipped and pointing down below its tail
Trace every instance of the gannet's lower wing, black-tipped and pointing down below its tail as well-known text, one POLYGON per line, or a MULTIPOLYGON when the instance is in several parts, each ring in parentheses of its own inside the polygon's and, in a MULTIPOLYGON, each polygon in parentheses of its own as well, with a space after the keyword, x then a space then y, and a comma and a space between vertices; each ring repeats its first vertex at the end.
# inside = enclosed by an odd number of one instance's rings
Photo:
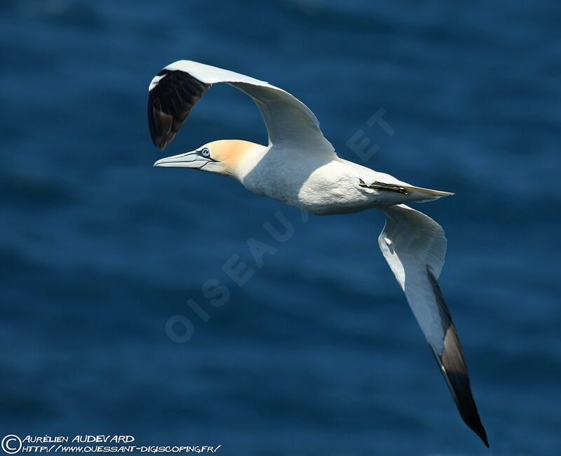
POLYGON ((462 419, 489 446, 458 333, 438 286, 446 253, 444 231, 431 217, 404 204, 383 212, 386 226, 378 239, 381 251, 405 292, 462 419))

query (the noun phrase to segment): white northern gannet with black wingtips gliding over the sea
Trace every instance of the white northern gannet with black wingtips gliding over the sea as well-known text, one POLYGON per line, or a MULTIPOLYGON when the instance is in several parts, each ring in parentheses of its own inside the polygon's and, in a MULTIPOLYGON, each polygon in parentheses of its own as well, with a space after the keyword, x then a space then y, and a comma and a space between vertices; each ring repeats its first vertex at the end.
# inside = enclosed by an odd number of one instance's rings
POLYGON ((255 101, 269 145, 217 140, 160 159, 154 166, 194 168, 232 177, 250 192, 312 214, 381 210, 386 215, 378 239, 381 252, 405 292, 462 419, 488 447, 457 330, 438 286, 446 253, 444 231, 431 217, 405 206, 410 201, 429 201, 452 193, 414 187, 339 158, 313 112, 290 93, 190 60, 173 62, 150 82, 148 121, 154 145, 163 150, 205 90, 219 82, 234 86, 255 101))

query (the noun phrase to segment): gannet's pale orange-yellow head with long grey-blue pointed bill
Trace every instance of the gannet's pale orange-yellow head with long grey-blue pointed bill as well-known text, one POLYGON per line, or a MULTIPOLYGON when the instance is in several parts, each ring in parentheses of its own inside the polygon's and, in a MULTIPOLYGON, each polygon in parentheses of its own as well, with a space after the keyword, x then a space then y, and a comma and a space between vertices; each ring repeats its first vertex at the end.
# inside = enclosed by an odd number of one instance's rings
POLYGON ((193 168, 210 173, 240 178, 250 154, 264 146, 243 140, 218 140, 208 142, 194 151, 165 157, 154 166, 193 168))

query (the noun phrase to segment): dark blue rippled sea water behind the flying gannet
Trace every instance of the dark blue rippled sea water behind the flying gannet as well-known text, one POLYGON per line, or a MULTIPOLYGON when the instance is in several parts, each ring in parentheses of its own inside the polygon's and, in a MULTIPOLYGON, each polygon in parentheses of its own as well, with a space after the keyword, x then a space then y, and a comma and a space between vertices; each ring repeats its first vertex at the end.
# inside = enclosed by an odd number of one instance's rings
MULTIPOLYGON (((1 436, 561 454, 558 1, 0 5, 1 436), (491 450, 379 252, 380 213, 302 220, 233 180, 152 168, 148 83, 180 58, 290 91, 345 159, 363 163, 347 145, 363 130, 367 166, 457 192, 415 207, 447 232, 440 285, 491 450), (379 109, 391 136, 366 124, 379 109), (278 211, 284 243, 263 227, 278 211), (262 267, 248 239, 275 250, 262 267), (255 271, 242 287, 232 255, 255 271)), ((266 142, 252 101, 220 85, 165 155, 219 138, 266 142)))

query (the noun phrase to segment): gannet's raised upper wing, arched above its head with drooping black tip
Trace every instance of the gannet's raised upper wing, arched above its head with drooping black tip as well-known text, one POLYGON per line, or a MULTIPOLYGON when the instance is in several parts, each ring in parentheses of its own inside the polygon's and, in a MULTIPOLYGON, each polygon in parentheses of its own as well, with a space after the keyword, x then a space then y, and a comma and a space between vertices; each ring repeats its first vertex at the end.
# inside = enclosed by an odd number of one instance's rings
POLYGON ((154 145, 163 149, 173 140, 205 90, 219 82, 229 83, 253 98, 265 121, 269 144, 299 145, 334 155, 316 116, 290 93, 250 76, 191 60, 173 62, 150 82, 148 122, 154 145))

